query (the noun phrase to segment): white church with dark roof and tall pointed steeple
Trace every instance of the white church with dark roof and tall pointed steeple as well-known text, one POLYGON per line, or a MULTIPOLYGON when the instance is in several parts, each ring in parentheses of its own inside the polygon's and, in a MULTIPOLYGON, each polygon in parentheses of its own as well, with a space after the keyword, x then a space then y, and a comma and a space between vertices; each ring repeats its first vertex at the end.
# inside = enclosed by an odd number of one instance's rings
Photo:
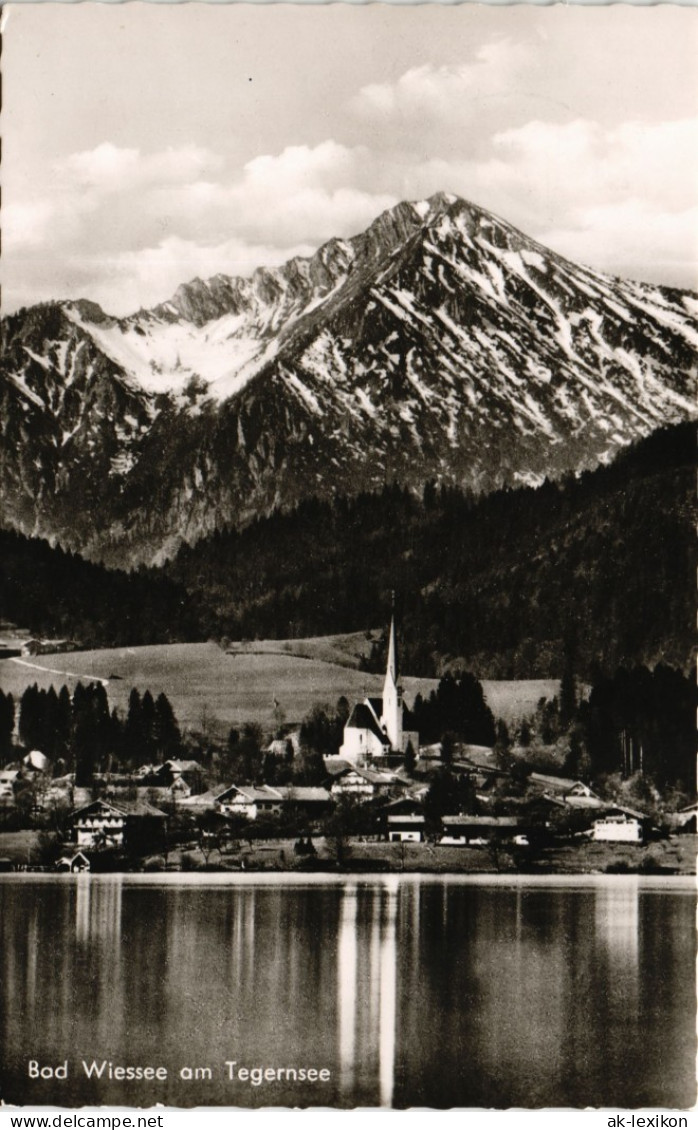
POLYGON ((352 765, 402 760, 409 745, 419 754, 419 734, 402 728, 402 687, 399 683, 395 616, 391 619, 383 697, 357 703, 344 725, 339 756, 352 765))

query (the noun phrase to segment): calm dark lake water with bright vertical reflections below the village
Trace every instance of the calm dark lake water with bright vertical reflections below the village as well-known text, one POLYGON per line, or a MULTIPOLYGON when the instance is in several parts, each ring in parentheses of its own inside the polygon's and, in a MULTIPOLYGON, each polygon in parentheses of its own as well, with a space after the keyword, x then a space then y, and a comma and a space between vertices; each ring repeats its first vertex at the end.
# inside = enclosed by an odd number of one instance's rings
POLYGON ((7 1103, 696 1102, 690 878, 2 876, 0 939, 7 1103))

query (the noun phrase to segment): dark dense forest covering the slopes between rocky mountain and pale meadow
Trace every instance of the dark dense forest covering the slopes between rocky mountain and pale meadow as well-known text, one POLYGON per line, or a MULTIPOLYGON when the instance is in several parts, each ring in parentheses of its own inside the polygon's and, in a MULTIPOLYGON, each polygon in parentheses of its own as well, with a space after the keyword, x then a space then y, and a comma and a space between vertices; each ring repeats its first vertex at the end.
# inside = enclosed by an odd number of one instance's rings
POLYGON ((587 680, 688 671, 695 462, 679 425, 538 489, 308 499, 131 574, 0 532, 0 617, 82 646, 288 638, 384 625, 395 590, 411 675, 559 678, 569 654, 587 680))

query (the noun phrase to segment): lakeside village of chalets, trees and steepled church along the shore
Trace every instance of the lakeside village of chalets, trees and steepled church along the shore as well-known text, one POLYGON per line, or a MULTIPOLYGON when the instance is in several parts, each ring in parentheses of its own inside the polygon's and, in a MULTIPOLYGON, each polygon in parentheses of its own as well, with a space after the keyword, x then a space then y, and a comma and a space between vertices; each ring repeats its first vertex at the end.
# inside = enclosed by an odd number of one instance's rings
POLYGON ((421 742, 405 715, 393 616, 383 695, 354 704, 312 783, 293 728, 252 782, 169 757, 86 785, 29 750, 0 770, 0 869, 692 870, 696 805, 657 820, 497 744, 421 742))

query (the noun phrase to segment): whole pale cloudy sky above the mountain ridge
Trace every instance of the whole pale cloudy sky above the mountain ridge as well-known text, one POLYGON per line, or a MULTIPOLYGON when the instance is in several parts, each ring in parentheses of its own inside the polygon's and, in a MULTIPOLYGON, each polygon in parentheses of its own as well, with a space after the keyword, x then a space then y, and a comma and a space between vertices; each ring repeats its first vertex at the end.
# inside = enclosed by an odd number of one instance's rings
POLYGON ((5 8, 2 307, 123 315, 446 191, 698 288, 698 8, 5 8))

